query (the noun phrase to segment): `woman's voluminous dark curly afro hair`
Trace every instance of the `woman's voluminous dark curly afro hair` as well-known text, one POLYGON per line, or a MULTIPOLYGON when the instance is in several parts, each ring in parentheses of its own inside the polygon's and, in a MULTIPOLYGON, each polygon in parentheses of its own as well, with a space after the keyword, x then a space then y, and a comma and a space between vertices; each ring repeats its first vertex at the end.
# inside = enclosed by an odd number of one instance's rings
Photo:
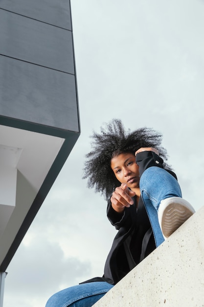
POLYGON ((162 135, 151 128, 139 128, 126 132, 121 120, 113 119, 101 127, 101 133, 93 131, 91 135, 92 150, 86 154, 83 179, 88 179, 87 186, 101 192, 109 199, 114 189, 120 185, 111 169, 111 159, 120 153, 133 153, 141 147, 154 147, 164 160, 164 168, 171 169, 166 164, 167 152, 161 146, 162 135))

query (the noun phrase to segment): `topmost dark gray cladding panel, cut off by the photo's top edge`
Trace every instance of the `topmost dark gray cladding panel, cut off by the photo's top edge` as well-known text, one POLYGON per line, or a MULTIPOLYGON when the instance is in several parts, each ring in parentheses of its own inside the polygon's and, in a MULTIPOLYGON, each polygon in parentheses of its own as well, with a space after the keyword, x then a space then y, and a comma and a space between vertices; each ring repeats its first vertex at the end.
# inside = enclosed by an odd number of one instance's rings
POLYGON ((0 8, 72 29, 69 0, 0 0, 0 8))

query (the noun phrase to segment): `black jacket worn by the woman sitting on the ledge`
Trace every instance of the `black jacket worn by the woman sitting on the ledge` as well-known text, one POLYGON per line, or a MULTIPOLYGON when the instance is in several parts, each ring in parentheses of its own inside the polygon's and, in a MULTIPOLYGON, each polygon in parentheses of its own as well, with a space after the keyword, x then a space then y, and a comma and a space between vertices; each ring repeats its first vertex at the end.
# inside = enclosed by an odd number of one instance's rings
MULTIPOLYGON (((154 152, 137 153, 136 163, 139 166, 140 176, 151 166, 163 168, 163 160, 154 152)), ((167 171, 176 178, 172 171, 167 171)), ((137 209, 136 199, 134 199, 134 205, 125 208, 122 213, 117 213, 109 200, 107 216, 118 232, 105 263, 104 275, 102 278, 96 277, 85 282, 108 281, 115 284, 156 248, 150 221, 141 197, 137 209)))

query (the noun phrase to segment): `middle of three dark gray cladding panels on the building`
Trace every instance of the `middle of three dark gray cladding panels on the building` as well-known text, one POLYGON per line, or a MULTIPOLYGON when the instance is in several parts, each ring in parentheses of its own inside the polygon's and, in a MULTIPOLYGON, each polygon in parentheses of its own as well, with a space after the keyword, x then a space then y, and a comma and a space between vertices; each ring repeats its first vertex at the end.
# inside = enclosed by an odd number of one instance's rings
POLYGON ((71 31, 2 9, 0 54, 74 74, 71 31))

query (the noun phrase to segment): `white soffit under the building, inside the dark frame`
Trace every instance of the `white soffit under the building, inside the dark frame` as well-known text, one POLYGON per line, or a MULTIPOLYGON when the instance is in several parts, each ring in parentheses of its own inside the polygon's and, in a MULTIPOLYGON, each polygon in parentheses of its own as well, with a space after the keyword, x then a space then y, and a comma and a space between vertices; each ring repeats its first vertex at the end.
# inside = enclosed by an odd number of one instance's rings
POLYGON ((0 125, 0 263, 64 141, 0 125))

